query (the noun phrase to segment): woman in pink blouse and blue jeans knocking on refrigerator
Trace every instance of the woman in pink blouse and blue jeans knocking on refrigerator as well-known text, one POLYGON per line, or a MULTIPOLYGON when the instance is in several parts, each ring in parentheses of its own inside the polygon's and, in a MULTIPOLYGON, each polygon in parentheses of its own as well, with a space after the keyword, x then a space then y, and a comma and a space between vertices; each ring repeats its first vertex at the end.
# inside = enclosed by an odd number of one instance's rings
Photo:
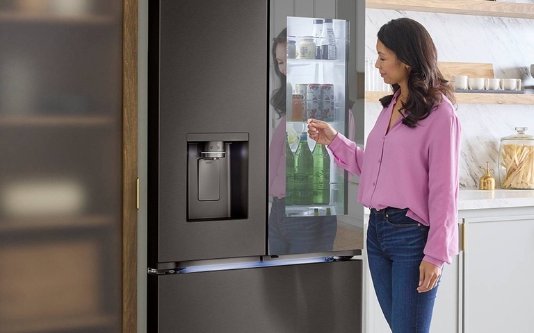
POLYGON ((323 121, 308 119, 308 133, 360 176, 358 200, 371 210, 369 270, 389 327, 428 332, 442 266, 458 254, 460 122, 421 24, 391 20, 376 49, 394 94, 380 99, 365 151, 323 121))

